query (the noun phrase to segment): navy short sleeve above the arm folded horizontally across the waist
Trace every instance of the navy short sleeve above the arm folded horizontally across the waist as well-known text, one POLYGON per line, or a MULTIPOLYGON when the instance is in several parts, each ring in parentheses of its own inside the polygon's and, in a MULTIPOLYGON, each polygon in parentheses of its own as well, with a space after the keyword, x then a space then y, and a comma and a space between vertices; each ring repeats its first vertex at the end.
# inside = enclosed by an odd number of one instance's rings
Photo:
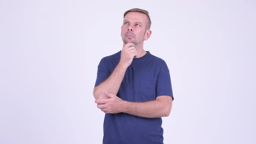
POLYGON ((166 62, 162 62, 160 72, 156 82, 156 96, 167 95, 173 99, 173 92, 171 87, 171 77, 166 62))

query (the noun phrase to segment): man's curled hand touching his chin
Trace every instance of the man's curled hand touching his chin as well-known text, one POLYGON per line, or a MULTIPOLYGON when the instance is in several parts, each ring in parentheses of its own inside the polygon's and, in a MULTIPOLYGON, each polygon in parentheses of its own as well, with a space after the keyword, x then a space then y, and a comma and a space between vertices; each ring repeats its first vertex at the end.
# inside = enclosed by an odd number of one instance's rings
POLYGON ((125 68, 131 65, 133 58, 137 55, 137 51, 134 46, 135 44, 133 43, 125 44, 121 51, 121 59, 119 65, 122 65, 125 68))

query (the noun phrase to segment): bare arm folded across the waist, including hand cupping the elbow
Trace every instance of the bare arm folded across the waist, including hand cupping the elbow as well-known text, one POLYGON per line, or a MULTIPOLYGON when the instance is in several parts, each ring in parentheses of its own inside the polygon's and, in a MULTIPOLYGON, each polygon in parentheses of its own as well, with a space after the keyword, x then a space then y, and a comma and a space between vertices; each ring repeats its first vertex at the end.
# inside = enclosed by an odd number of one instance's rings
POLYGON ((158 96, 154 101, 130 102, 106 92, 108 99, 96 100, 97 107, 105 113, 116 114, 128 113, 144 118, 167 117, 171 112, 172 97, 167 95, 158 96))

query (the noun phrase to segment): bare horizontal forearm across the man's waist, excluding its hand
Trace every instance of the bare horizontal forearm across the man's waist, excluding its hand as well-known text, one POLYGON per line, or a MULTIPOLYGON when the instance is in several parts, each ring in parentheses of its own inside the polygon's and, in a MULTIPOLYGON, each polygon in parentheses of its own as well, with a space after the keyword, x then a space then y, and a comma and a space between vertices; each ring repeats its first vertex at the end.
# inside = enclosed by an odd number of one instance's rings
POLYGON ((171 112, 172 100, 169 96, 147 102, 123 101, 122 112, 144 118, 167 117, 171 112))

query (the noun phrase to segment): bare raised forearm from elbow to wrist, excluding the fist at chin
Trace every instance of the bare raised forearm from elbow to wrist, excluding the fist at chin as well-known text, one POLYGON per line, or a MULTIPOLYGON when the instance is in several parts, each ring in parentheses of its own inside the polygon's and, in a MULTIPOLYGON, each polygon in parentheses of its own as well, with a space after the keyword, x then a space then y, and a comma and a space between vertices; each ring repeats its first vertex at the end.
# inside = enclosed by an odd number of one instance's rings
POLYGON ((118 64, 112 74, 102 82, 100 85, 96 86, 93 90, 93 95, 95 99, 106 99, 105 92, 110 92, 117 95, 121 82, 124 78, 126 67, 118 64))

